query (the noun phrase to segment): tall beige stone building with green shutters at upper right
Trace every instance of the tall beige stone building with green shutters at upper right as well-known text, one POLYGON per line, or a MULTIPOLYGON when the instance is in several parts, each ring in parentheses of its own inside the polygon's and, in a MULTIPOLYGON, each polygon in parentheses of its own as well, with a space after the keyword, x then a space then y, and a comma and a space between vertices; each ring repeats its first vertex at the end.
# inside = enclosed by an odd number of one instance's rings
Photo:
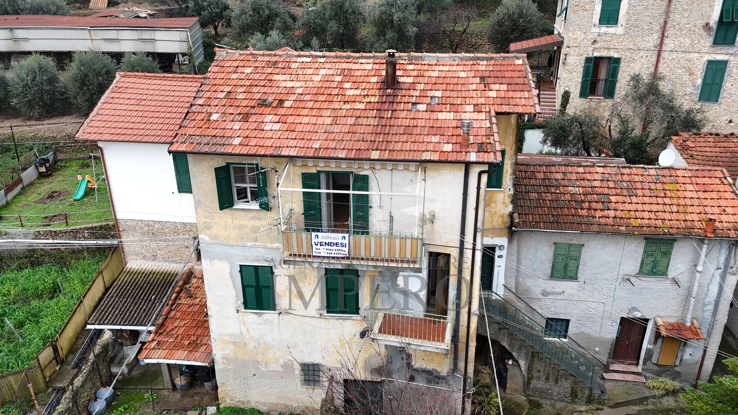
POLYGON ((631 75, 658 73, 680 103, 706 109, 707 131, 730 132, 738 121, 737 7, 734 0, 561 0, 556 36, 511 52, 555 48, 556 103, 569 89, 569 109, 604 109, 631 75))

